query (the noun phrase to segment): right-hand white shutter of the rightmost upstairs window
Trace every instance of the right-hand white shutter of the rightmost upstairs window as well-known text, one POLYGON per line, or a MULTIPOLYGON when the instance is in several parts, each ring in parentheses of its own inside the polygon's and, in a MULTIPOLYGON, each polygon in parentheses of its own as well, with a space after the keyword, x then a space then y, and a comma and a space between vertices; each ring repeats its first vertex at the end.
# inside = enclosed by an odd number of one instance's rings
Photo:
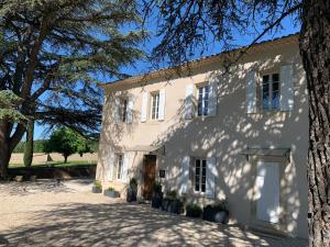
POLYGON ((285 65, 280 67, 279 105, 282 111, 292 111, 294 109, 295 85, 293 76, 293 65, 285 65))

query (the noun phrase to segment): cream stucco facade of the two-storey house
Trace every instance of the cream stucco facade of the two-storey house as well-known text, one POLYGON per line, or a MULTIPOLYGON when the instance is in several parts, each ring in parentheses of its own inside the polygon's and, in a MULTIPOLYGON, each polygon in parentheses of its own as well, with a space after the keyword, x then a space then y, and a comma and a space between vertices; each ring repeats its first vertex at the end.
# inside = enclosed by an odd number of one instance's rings
MULTIPOLYGON (((129 179, 134 177, 143 189, 145 155, 154 154, 156 180, 165 191, 177 190, 186 201, 204 205, 227 199, 231 222, 307 237, 308 99, 297 36, 254 45, 227 74, 223 74, 223 59, 226 55, 220 54, 193 61, 180 76, 165 69, 106 85, 97 179, 103 182, 103 188, 114 187, 124 194, 129 179), (290 68, 292 86, 285 92, 285 82, 280 81, 279 91, 293 102, 284 109, 265 111, 261 100, 262 78, 288 75, 282 74, 284 66, 290 68), (187 87, 194 86, 193 97, 197 98, 198 87, 210 81, 216 104, 209 108, 216 108, 215 114, 198 116, 195 111, 191 117, 186 117, 187 87), (151 120, 152 102, 143 97, 155 91, 164 93, 162 120, 151 120), (130 123, 113 120, 114 108, 121 104, 118 99, 122 98, 131 100, 130 123), (142 113, 145 103, 147 111, 142 113), (251 148, 265 151, 249 153, 251 148), (285 151, 280 153, 282 149, 285 151), (116 154, 127 157, 124 179, 117 177, 116 154), (187 157, 188 171, 187 167, 183 170, 187 157), (198 158, 215 162, 206 169, 212 172, 212 184, 207 184, 211 194, 194 189, 194 160, 198 158), (257 217, 260 162, 277 167, 279 195, 275 223, 257 217), (160 178, 160 170, 165 170, 165 178, 160 178)), ((272 179, 277 184, 276 178, 272 179)), ((263 181, 266 182, 267 179, 263 181)))

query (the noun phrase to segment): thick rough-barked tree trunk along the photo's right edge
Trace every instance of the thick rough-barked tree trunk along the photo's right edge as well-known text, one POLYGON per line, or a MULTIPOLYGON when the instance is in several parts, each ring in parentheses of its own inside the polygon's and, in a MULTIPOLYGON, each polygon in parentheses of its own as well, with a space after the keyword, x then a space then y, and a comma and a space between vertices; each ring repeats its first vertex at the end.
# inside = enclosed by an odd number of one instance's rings
POLYGON ((302 1, 300 54, 309 91, 309 246, 330 246, 330 1, 302 1))

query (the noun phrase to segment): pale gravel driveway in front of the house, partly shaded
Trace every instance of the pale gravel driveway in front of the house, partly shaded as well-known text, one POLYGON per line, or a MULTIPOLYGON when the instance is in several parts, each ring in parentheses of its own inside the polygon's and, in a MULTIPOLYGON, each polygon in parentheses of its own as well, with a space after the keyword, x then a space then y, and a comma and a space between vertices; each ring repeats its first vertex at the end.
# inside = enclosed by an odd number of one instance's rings
POLYGON ((307 246, 127 204, 90 187, 90 180, 0 183, 0 246, 307 246))

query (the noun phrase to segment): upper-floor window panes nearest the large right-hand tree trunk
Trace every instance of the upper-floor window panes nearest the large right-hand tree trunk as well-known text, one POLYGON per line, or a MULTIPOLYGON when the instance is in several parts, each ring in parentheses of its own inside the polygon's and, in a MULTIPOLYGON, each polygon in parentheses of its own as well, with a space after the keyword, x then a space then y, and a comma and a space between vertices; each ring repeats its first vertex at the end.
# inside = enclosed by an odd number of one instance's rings
POLYGON ((279 109, 279 75, 263 76, 262 89, 262 106, 263 110, 278 110, 279 109))

